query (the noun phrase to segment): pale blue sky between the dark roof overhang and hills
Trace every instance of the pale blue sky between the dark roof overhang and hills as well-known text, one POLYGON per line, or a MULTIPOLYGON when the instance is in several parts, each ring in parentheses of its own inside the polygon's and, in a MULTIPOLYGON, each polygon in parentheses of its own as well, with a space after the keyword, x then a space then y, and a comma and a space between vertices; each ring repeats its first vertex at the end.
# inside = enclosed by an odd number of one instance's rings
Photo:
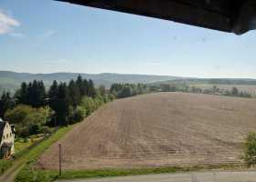
POLYGON ((1 0, 0 70, 256 78, 255 33, 53 0, 1 0))

